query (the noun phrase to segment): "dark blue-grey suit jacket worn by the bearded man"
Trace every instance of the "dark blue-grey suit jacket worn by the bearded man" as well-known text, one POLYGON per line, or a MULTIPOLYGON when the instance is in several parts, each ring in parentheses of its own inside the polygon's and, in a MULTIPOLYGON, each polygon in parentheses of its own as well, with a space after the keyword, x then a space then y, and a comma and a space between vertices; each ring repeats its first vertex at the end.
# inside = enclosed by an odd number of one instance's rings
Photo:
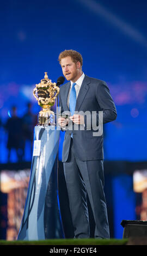
MULTIPOLYGON (((61 107, 61 113, 69 113, 69 108, 67 105, 69 89, 70 82, 60 87, 59 106, 61 107)), ((79 90, 75 108, 75 112, 80 111, 84 113, 88 112, 90 118, 90 113, 94 112, 96 118, 96 126, 99 126, 99 111, 103 112, 103 124, 113 121, 117 118, 117 110, 115 108, 106 82, 85 75, 79 90)), ((93 132, 96 132, 96 126, 93 127, 92 121, 91 124, 89 121, 87 121, 89 120, 88 115, 84 115, 84 120, 85 125, 83 126, 82 130, 79 129, 79 125, 77 125, 75 130, 72 130, 72 122, 70 122, 70 126, 68 126, 68 128, 66 127, 62 153, 63 162, 68 160, 71 133, 73 137, 75 154, 78 159, 82 161, 88 161, 102 160, 104 158, 103 133, 101 136, 93 136, 93 132)))

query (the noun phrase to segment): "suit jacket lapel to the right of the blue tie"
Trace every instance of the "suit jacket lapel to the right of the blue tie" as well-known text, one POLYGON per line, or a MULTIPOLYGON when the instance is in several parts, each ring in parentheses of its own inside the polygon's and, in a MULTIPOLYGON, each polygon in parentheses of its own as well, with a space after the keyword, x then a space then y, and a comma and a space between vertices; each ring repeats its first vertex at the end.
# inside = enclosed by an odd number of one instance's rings
POLYGON ((75 111, 78 111, 79 108, 81 107, 81 104, 82 104, 82 102, 84 100, 84 97, 85 97, 85 95, 88 92, 88 89, 89 89, 88 84, 89 83, 90 83, 90 79, 89 79, 88 76, 85 75, 85 77, 83 79, 83 82, 82 82, 82 85, 81 85, 81 88, 80 88, 79 93, 78 93, 75 111))

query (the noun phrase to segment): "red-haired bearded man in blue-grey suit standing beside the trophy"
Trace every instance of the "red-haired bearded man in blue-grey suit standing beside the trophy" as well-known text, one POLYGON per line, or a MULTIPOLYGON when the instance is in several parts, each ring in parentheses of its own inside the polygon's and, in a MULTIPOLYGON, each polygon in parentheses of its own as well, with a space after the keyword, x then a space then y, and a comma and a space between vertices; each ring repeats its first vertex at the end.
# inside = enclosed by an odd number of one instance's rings
POLYGON ((108 239, 100 127, 115 120, 117 111, 107 84, 83 73, 80 53, 65 50, 59 54, 59 63, 69 81, 60 87, 59 106, 61 113, 70 113, 70 116, 67 119, 61 115, 58 122, 66 130, 62 161, 75 238, 90 237, 88 194, 95 220, 95 238, 108 239), (103 120, 99 118, 101 113, 103 120))

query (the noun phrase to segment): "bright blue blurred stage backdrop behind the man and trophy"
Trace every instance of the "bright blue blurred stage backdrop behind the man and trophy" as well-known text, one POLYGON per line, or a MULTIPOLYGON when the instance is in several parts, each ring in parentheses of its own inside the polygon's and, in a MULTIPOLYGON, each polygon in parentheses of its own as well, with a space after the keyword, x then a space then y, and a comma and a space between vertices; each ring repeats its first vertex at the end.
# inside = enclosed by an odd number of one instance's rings
MULTIPOLYGON (((146 8, 145 0, 1 1, 1 163, 7 162, 11 107, 22 117, 32 102, 32 112, 39 112, 33 88, 45 71, 52 82, 62 75, 58 56, 65 49, 82 54, 84 73, 106 81, 116 104, 117 120, 105 125, 105 160, 147 160, 146 8)), ((25 157, 32 159, 28 150, 25 157)), ((118 193, 117 180, 114 188, 118 193)))

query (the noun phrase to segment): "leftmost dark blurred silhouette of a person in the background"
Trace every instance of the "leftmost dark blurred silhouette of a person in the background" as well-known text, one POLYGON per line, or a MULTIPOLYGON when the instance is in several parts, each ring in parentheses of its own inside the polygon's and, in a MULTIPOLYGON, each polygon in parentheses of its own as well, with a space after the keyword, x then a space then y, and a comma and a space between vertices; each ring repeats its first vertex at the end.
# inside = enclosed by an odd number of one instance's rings
POLYGON ((7 120, 5 130, 8 132, 8 162, 10 162, 11 149, 16 150, 17 160, 23 160, 23 134, 22 134, 22 119, 17 117, 17 107, 11 108, 11 117, 7 120))

